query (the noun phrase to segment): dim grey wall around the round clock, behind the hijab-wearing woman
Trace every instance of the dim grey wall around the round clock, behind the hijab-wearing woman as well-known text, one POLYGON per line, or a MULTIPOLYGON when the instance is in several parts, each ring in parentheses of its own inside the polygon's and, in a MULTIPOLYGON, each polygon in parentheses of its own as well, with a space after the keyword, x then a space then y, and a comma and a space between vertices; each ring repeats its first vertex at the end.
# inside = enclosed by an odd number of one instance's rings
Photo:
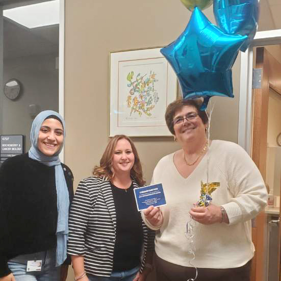
POLYGON ((41 110, 58 111, 56 56, 52 54, 4 60, 4 83, 15 78, 21 82, 22 92, 15 101, 3 96, 2 134, 25 135, 25 151, 30 147, 32 119, 29 116, 29 105, 37 104, 41 110))

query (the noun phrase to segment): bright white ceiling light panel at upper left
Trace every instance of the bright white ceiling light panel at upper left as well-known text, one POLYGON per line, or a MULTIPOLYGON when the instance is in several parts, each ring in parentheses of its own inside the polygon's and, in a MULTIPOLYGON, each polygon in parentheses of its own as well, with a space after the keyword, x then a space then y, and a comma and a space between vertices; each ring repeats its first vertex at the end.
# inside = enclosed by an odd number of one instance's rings
POLYGON ((54 0, 3 10, 3 16, 28 28, 34 28, 58 24, 59 8, 59 0, 54 0))

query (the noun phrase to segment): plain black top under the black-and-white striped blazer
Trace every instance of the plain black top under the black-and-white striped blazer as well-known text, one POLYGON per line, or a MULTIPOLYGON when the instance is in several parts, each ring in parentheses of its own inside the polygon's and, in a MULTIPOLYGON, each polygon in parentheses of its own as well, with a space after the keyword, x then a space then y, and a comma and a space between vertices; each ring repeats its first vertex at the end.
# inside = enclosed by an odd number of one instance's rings
POLYGON ((113 271, 133 269, 140 265, 143 229, 137 210, 133 185, 121 189, 111 184, 116 209, 116 241, 113 271))

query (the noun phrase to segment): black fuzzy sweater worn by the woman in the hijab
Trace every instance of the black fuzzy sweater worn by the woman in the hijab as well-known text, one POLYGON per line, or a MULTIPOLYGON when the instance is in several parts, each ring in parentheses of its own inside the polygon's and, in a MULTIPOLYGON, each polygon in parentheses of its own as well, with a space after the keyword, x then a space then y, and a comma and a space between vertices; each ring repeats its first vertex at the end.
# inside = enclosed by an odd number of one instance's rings
MULTIPOLYGON (((69 200, 73 175, 62 164, 69 200)), ((0 277, 11 271, 7 261, 21 254, 56 248, 57 191, 55 167, 28 154, 7 159, 0 168, 0 277)))

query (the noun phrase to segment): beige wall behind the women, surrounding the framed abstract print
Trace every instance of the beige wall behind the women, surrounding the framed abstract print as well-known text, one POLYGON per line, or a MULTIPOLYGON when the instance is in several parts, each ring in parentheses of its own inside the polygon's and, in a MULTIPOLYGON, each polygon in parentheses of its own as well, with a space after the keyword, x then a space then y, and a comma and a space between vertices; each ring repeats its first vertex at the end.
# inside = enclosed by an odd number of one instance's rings
MULTIPOLYGON (((214 23, 212 7, 204 13, 214 23)), ((75 188, 91 175, 108 141, 109 52, 167 45, 184 30, 190 15, 180 0, 66 0, 65 163, 73 170, 75 188)), ((214 139, 237 142, 239 63, 238 57, 233 71, 235 98, 212 98, 214 139)), ((172 137, 133 140, 148 182, 157 161, 178 149, 172 137)))

